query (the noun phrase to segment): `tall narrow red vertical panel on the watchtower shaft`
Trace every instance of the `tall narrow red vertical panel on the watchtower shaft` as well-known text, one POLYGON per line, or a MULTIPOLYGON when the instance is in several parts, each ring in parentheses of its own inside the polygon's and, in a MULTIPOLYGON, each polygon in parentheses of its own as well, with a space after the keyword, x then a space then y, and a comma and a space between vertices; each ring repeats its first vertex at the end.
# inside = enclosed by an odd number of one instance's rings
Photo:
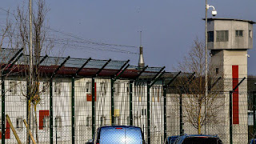
MULTIPOLYGON (((238 85, 238 66, 232 66, 233 89, 238 85)), ((233 93, 233 124, 239 124, 238 88, 233 93)))

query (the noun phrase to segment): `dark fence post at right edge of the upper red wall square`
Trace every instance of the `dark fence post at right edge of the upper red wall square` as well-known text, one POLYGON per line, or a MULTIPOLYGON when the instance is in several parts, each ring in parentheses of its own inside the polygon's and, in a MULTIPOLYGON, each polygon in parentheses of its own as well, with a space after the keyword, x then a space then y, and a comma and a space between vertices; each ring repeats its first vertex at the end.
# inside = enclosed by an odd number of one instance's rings
POLYGON ((94 132, 95 132, 95 78, 91 79, 91 95, 92 95, 92 100, 91 100, 91 112, 92 112, 92 137, 94 137, 94 132))

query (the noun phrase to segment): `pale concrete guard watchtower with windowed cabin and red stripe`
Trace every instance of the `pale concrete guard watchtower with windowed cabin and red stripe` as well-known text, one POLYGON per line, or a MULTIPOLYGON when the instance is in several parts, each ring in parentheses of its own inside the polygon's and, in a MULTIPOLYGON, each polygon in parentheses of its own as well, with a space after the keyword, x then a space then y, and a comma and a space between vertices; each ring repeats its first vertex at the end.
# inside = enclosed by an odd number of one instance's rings
MULTIPOLYGON (((247 78, 247 50, 253 48, 253 24, 255 22, 231 19, 208 18, 208 50, 210 50, 212 72, 222 76, 223 91, 233 90, 234 86, 247 78)), ((223 110, 225 142, 229 142, 229 94, 225 95, 223 110)), ((242 82, 232 96, 233 142, 248 141, 247 126, 247 82, 242 82)))

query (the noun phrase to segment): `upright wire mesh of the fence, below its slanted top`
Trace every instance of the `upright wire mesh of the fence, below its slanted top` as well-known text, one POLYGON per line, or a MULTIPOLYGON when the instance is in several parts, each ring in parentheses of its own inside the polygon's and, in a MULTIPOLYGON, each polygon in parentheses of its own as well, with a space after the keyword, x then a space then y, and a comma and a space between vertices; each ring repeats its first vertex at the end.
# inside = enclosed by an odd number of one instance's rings
MULTIPOLYGON (((174 75, 174 74, 173 74, 174 75)), ((72 78, 54 78, 53 80, 53 142, 72 143, 72 78)), ((242 79, 238 79, 240 82, 242 79)), ((233 130, 232 137, 234 143, 244 143, 254 136, 253 130, 250 130, 251 121, 248 118, 248 110, 253 110, 253 92, 255 87, 250 87, 256 82, 255 79, 246 79, 234 91, 233 96, 233 130), (236 93, 236 94, 235 94, 236 93), (234 96, 238 95, 238 99, 234 96), (236 106, 238 106, 238 109, 236 106), (236 109, 238 111, 236 111, 236 109), (238 121, 235 120, 235 113, 238 113, 238 121), (249 128, 248 128, 249 126, 249 128), (249 131, 250 130, 250 131, 249 131)), ((22 120, 26 119, 26 79, 17 76, 6 78, 5 86, 5 114, 10 116, 14 128, 22 142, 26 142, 26 126, 22 120)), ((234 83, 232 78, 225 78, 222 81, 223 90, 213 90, 216 94, 214 105, 218 106, 218 123, 206 123, 202 126, 202 134, 218 134, 224 143, 230 143, 230 90, 233 90, 234 83)), ((130 125, 142 128, 142 133, 146 142, 150 138, 150 143, 164 142, 164 97, 163 82, 159 81, 150 87, 150 105, 148 105, 148 83, 135 81, 130 90, 130 80, 114 81, 111 87, 111 78, 95 78, 94 84, 92 78, 74 78, 74 142, 85 143, 93 138, 94 131, 100 126, 111 126, 112 122, 116 126, 130 125), (94 115, 92 112, 92 87, 95 90, 94 115), (112 98, 113 96, 113 98, 112 98), (132 102, 130 102, 130 96, 132 102), (114 101, 111 101, 114 100, 114 101), (132 111, 130 111, 132 104, 132 111), (149 107, 148 107, 149 106, 149 107), (112 110, 113 113, 112 113, 112 110), (132 119, 130 118, 132 112, 132 119), (148 115, 150 114, 150 116, 148 115), (148 117, 150 119, 148 119, 148 117), (93 123, 93 118, 95 122, 93 123), (113 119, 112 119, 113 118, 113 119), (148 127, 148 121, 150 127, 148 127), (150 130, 150 135, 148 135, 150 130)), ((41 79, 39 82, 40 101, 36 106, 31 107, 31 132, 36 138, 38 133, 38 143, 50 142, 50 83, 49 79, 41 79), (36 116, 35 116, 36 114, 36 116), (38 130, 38 132, 37 132, 38 130)), ((185 134, 198 134, 197 127, 189 122, 187 106, 190 98, 189 94, 182 94, 182 106, 180 103, 180 94, 171 93, 166 95, 166 135, 179 135, 181 130, 185 134), (180 108, 182 107, 182 114, 180 108), (182 121, 181 121, 182 118, 182 121), (181 125, 182 124, 182 125, 181 125)), ((204 106, 202 106, 204 107, 204 106)), ((2 102, 0 109, 2 110, 2 102)), ((204 108, 202 108, 204 111, 204 108)), ((204 113, 202 113, 203 116, 204 113)), ((2 118, 2 117, 1 117, 2 118)), ((210 117, 209 117, 210 118, 210 117)), ((6 143, 16 143, 10 125, 6 122, 6 143)))

